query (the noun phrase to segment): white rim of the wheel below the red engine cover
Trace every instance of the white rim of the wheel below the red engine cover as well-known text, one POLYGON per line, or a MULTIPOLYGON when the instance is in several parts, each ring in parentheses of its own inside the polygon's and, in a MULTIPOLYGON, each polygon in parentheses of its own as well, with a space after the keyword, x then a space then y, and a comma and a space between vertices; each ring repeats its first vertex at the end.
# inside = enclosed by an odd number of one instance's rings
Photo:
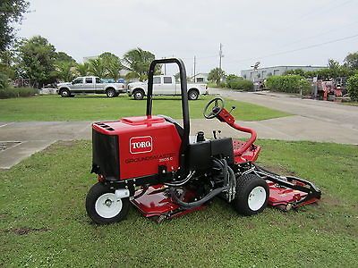
POLYGON ((122 200, 114 193, 106 193, 98 197, 95 209, 102 218, 110 219, 118 215, 122 210, 122 200))

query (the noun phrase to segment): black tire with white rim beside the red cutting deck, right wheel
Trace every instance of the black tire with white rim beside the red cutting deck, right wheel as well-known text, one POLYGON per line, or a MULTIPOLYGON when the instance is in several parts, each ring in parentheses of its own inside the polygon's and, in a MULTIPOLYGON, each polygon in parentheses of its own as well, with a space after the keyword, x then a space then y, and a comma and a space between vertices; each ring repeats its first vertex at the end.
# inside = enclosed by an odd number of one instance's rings
POLYGON ((234 209, 245 216, 260 214, 268 205, 268 183, 254 174, 236 178, 234 209), (266 194, 266 197, 264 196, 266 194))

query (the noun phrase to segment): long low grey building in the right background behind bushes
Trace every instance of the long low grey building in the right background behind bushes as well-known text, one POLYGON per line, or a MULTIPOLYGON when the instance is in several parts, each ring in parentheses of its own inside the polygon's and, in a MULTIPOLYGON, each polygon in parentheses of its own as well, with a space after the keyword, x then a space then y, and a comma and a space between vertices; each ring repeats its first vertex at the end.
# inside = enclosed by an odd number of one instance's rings
POLYGON ((327 66, 273 66, 259 68, 257 70, 243 70, 241 76, 245 80, 264 80, 271 75, 283 75, 285 71, 301 69, 303 71, 319 71, 328 68, 327 66))

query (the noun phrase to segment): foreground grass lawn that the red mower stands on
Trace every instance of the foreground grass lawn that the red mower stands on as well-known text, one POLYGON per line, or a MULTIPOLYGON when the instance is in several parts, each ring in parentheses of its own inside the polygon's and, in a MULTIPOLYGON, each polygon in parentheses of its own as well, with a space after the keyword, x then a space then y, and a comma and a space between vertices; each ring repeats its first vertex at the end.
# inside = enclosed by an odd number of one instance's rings
POLYGON ((90 142, 56 143, 0 172, 0 266, 356 266, 358 147, 258 144, 260 164, 314 181, 320 204, 242 217, 215 199, 162 224, 131 208, 124 222, 97 226, 84 208, 96 182, 90 142))

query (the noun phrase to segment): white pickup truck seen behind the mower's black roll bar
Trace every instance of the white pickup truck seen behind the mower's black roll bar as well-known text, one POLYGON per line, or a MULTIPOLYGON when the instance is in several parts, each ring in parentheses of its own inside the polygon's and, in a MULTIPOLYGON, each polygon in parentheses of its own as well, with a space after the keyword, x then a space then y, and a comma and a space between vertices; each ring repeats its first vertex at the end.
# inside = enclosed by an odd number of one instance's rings
MULTIPOLYGON (((134 99, 142 99, 147 95, 147 82, 134 82, 128 84, 127 92, 134 99)), ((188 84, 188 98, 195 100, 200 95, 208 95, 208 86, 205 84, 188 84)), ((175 83, 174 76, 156 75, 153 77, 153 96, 181 95, 180 84, 175 83)))

